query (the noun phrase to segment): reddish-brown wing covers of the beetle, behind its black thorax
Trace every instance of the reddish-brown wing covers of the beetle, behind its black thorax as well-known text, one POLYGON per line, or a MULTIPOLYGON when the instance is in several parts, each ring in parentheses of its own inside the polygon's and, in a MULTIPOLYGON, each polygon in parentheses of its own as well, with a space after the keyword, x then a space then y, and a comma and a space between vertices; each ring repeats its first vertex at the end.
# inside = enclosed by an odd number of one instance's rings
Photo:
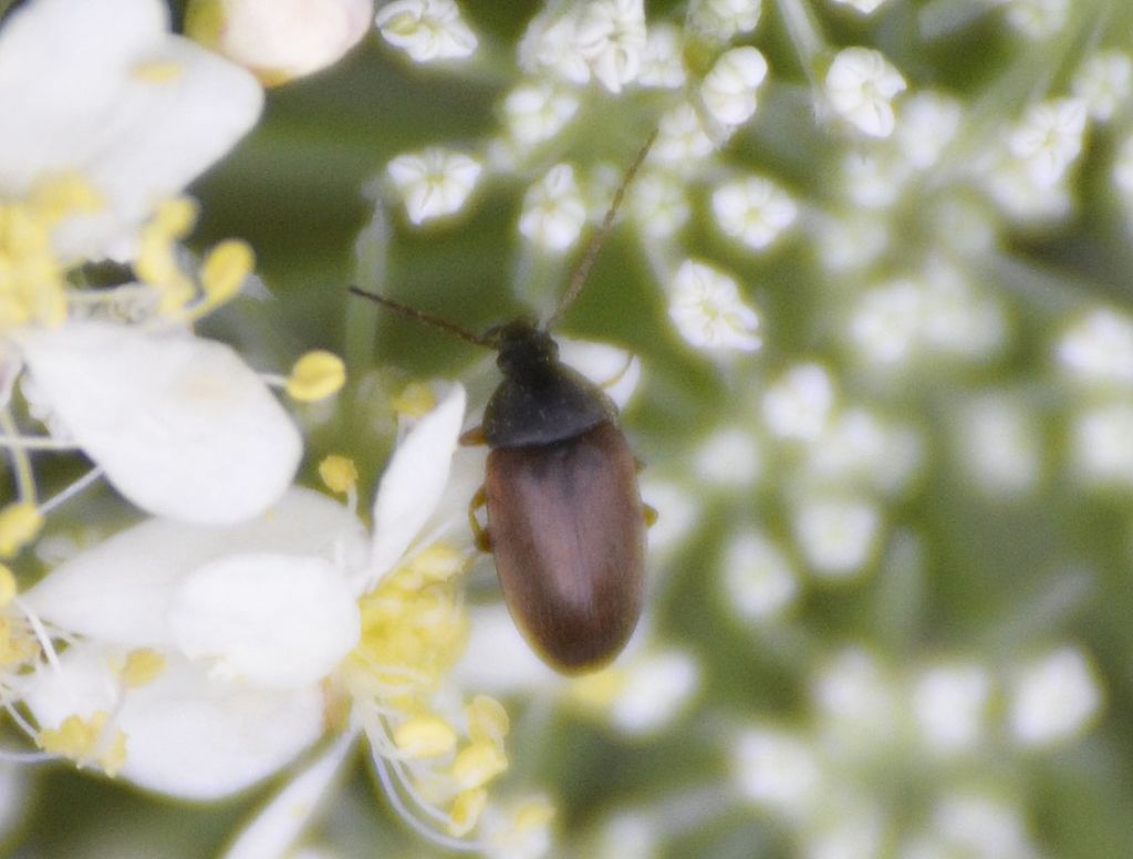
POLYGON ((531 646, 565 672, 616 656, 645 590, 645 517, 621 431, 606 420, 493 450, 485 494, 500 586, 531 646))

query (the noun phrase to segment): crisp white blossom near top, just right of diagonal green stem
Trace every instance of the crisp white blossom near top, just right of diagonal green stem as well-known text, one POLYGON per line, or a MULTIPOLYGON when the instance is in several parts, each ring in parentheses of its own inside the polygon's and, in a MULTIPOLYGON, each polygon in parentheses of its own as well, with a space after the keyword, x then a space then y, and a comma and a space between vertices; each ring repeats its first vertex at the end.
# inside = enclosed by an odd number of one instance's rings
POLYGON ((826 73, 826 93, 834 110, 870 137, 893 133, 893 99, 905 87, 901 73, 868 48, 843 49, 826 73))

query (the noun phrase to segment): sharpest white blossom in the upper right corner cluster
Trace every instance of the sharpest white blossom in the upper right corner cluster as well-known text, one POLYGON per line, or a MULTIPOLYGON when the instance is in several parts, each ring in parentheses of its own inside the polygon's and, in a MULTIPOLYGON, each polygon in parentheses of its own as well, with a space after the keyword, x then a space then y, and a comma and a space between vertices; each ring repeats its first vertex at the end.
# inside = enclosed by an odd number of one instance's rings
POLYGON ((1036 104, 1008 135, 1007 150, 1039 187, 1050 187, 1082 152, 1088 116, 1080 99, 1036 104))

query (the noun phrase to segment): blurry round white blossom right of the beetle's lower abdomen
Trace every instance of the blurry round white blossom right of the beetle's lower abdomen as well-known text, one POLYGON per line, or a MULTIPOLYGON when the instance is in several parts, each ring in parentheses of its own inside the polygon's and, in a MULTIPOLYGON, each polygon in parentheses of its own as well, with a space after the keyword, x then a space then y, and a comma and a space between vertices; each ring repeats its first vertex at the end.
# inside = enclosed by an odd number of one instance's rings
POLYGON ((743 620, 775 616, 799 595, 790 561, 774 542, 756 531, 731 538, 721 568, 725 605, 743 620))

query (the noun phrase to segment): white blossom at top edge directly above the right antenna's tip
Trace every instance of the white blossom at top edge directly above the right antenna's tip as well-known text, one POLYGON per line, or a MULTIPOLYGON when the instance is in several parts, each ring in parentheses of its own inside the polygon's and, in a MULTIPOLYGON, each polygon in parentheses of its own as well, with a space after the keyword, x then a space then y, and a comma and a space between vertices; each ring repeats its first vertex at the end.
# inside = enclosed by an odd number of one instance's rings
POLYGON ((594 76, 610 92, 621 92, 641 69, 646 44, 644 0, 589 0, 574 35, 594 76))

